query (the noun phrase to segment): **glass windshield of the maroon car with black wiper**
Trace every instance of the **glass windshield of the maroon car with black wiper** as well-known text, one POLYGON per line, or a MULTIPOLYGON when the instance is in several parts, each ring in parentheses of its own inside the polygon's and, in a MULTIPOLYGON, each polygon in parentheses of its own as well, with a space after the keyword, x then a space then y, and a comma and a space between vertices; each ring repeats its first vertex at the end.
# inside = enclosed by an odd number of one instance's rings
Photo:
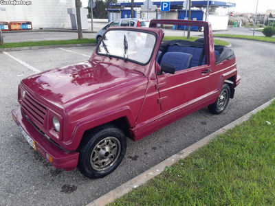
POLYGON ((153 34, 111 30, 103 37, 98 47, 98 54, 133 60, 144 65, 150 60, 154 46, 155 36, 153 34))

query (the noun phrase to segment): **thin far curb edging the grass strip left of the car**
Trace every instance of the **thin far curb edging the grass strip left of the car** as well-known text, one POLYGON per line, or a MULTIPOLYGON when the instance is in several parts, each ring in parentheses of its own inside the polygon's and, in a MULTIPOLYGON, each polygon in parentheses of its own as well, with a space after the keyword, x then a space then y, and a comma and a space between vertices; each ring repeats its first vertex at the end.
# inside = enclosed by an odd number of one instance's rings
POLYGON ((0 52, 13 52, 13 51, 23 51, 23 50, 32 50, 32 49, 54 49, 59 47, 91 47, 96 46, 96 43, 87 43, 87 44, 75 44, 75 45, 49 45, 49 46, 38 46, 38 47, 14 47, 14 48, 5 48, 0 49, 0 52))

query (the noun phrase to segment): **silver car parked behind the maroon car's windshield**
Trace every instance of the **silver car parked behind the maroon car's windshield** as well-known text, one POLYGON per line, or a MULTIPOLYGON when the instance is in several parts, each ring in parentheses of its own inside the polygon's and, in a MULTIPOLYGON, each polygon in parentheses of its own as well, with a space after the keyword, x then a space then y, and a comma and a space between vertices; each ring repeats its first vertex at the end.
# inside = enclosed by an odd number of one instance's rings
POLYGON ((105 25, 101 30, 96 34, 96 42, 99 43, 100 38, 103 36, 104 32, 109 27, 149 27, 150 20, 147 19, 133 19, 133 18, 125 18, 125 19, 117 19, 115 21, 111 21, 107 25, 105 25))

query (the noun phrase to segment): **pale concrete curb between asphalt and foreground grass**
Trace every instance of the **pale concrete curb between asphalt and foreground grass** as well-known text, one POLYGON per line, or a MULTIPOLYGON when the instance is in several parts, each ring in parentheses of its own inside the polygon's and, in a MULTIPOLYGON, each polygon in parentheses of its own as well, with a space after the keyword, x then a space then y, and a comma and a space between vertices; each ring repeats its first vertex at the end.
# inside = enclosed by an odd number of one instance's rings
POLYGON ((103 205, 113 203, 113 201, 115 201, 116 198, 120 198, 124 194, 127 194, 131 190, 138 187, 139 185, 146 183, 148 180, 150 180, 153 177, 157 176, 158 174, 162 173, 166 167, 173 165, 175 162, 179 161, 179 159, 184 159, 188 155, 190 155, 190 153, 201 148, 202 146, 205 146, 206 144, 208 144, 208 142, 211 139, 213 139, 217 135, 219 135, 221 133, 225 133, 230 128, 234 128, 234 126, 239 125, 244 121, 247 121, 248 119, 250 119, 251 115, 253 115, 253 114, 257 113, 258 111, 262 110, 263 108, 269 106, 274 100, 275 100, 275 98, 273 98, 272 100, 259 106, 258 108, 255 108, 250 113, 243 115, 243 117, 236 119, 234 122, 231 122, 230 124, 228 124, 226 126, 223 126, 223 128, 217 130, 216 132, 212 133, 211 135, 204 137, 203 139, 197 141, 195 144, 188 146, 188 148, 185 148, 184 150, 181 150, 177 154, 169 157, 168 159, 162 161, 161 163, 158 163, 153 168, 146 170, 145 172, 143 172, 142 174, 140 174, 138 176, 135 176, 135 178, 124 183, 123 185, 116 187, 115 190, 112 190, 111 192, 104 194, 100 198, 97 198, 95 201, 92 201, 87 206, 103 206, 103 205))

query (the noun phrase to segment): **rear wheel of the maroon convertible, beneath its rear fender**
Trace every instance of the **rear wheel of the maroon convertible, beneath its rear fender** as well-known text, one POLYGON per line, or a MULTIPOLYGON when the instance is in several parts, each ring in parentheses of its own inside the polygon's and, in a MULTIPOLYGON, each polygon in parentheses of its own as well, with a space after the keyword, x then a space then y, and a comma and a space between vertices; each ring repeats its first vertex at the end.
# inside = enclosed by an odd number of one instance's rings
POLYGON ((230 99, 230 92, 231 91, 229 85, 223 84, 223 87, 221 88, 221 93, 219 94, 219 98, 217 98, 216 102, 208 106, 208 110, 210 111, 210 113, 218 115, 225 110, 226 106, 228 106, 228 102, 230 99))

